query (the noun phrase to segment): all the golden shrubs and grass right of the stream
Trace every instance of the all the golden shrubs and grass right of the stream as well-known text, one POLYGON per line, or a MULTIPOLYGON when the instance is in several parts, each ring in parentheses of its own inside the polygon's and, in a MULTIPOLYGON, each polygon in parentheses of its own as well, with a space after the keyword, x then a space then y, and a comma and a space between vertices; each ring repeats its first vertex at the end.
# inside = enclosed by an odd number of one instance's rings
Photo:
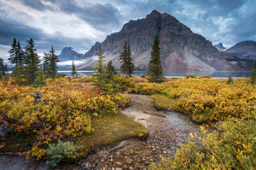
POLYGON ((252 79, 187 76, 148 83, 147 78, 119 76, 116 83, 128 92, 150 94, 159 108, 182 111, 195 122, 216 128, 208 133, 202 127, 202 137, 191 134, 174 157, 163 157, 150 169, 255 169, 256 89, 252 79))

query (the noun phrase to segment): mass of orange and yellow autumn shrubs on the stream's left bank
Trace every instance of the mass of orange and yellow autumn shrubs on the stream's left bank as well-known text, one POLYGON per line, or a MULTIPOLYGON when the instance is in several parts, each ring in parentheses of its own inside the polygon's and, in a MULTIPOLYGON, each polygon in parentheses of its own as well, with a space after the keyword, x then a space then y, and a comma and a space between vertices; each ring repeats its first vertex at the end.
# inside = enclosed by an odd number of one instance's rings
MULTIPOLYGON (((0 122, 16 132, 36 134, 28 158, 45 156, 45 145, 67 136, 93 131, 91 116, 115 114, 129 103, 122 94, 102 96, 84 78, 47 79, 41 99, 35 102, 33 87, 0 81, 0 122)), ((10 82, 10 81, 8 81, 10 82)))

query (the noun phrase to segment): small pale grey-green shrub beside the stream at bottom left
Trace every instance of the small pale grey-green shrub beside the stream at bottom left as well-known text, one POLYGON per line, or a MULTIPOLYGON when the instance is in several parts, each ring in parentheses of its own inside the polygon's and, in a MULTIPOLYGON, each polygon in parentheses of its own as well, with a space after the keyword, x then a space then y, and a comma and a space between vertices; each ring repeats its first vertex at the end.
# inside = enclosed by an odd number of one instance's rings
POLYGON ((76 148, 73 143, 65 142, 58 140, 56 144, 49 144, 49 148, 47 149, 47 155, 49 160, 47 164, 52 167, 57 166, 61 162, 61 160, 65 159, 66 162, 70 162, 72 160, 76 160, 79 157, 79 154, 76 151, 76 148))

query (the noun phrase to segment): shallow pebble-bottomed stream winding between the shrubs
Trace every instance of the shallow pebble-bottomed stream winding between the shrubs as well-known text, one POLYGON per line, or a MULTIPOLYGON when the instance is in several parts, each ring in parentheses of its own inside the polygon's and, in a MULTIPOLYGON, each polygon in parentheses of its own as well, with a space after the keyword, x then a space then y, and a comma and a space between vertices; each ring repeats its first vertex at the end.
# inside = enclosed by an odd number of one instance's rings
MULTIPOLYGON (((145 125, 145 140, 129 139, 114 146, 98 148, 77 164, 61 164, 57 169, 145 169, 150 162, 159 162, 186 143, 189 133, 199 134, 199 124, 177 111, 157 110, 150 96, 128 94, 129 107, 122 113, 145 125)), ((0 169, 52 169, 44 162, 14 155, 0 155, 0 169)))

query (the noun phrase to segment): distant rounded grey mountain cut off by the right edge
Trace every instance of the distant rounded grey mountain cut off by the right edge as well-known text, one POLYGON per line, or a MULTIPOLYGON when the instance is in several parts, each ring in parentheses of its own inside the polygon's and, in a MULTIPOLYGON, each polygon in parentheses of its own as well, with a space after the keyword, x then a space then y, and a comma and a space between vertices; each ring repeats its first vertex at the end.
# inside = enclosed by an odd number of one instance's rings
POLYGON ((228 48, 225 52, 241 59, 256 59, 256 41, 242 41, 228 48))

